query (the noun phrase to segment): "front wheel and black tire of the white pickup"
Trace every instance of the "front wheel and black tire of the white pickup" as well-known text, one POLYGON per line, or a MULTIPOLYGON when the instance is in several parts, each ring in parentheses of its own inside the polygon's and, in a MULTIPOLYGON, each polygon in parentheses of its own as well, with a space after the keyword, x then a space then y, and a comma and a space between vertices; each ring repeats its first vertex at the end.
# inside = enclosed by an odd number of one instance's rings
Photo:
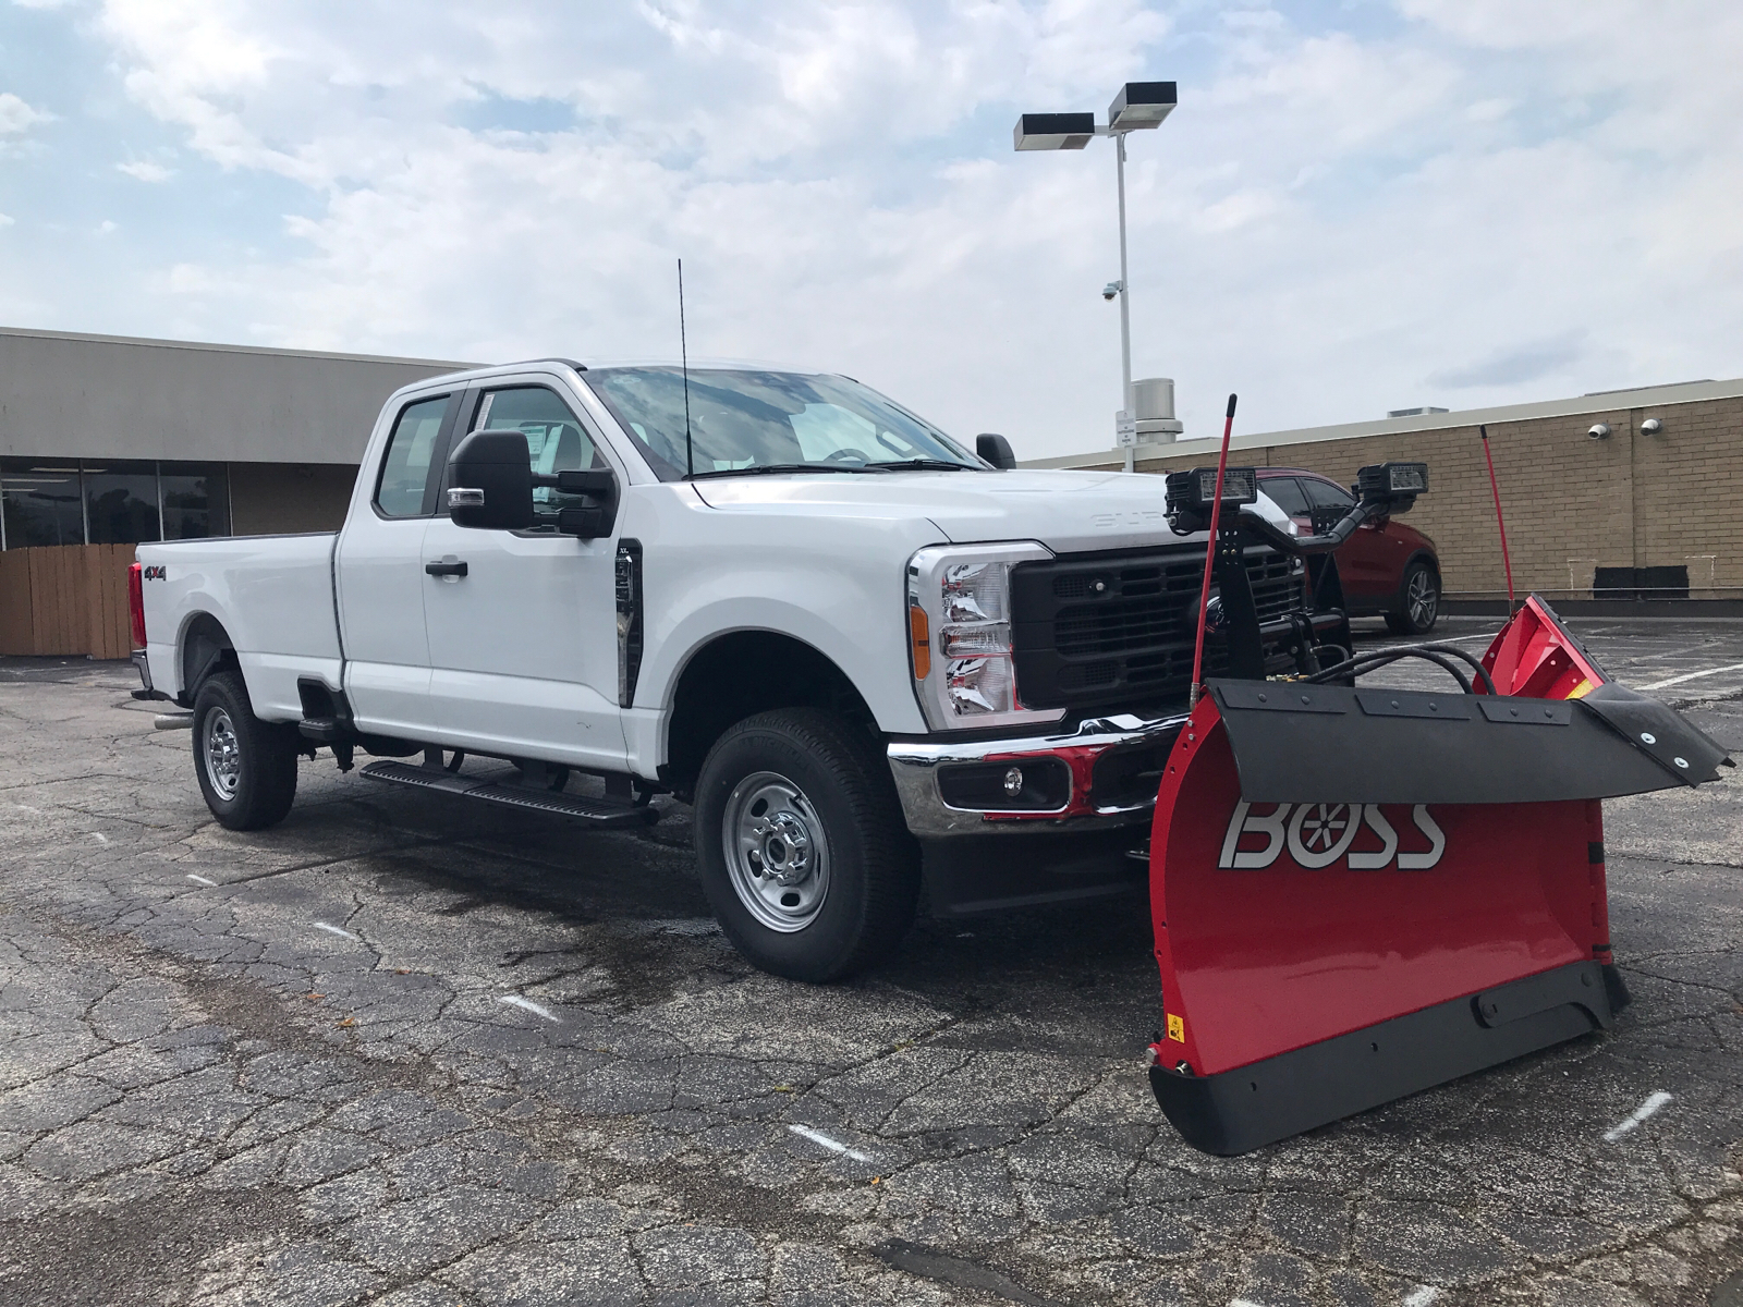
POLYGON ((695 857, 720 929, 788 979, 842 979, 882 960, 920 896, 889 765, 863 732, 812 708, 758 713, 715 741, 695 784, 695 857))

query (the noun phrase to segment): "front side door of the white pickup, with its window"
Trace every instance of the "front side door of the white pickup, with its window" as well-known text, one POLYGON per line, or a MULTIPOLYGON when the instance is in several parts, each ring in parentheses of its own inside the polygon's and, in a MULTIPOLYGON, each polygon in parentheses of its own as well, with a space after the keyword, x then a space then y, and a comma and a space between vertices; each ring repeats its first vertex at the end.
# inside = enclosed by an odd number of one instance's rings
MULTIPOLYGON (((486 389, 469 408, 476 415, 465 430, 523 432, 533 472, 612 467, 547 383, 486 389)), ((621 491, 624 471, 614 471, 621 491)), ((424 579, 431 697, 441 739, 457 748, 615 770, 627 758, 617 709, 615 533, 560 535, 561 498, 533 491, 540 521, 530 532, 431 521, 424 561, 446 573, 424 579)))

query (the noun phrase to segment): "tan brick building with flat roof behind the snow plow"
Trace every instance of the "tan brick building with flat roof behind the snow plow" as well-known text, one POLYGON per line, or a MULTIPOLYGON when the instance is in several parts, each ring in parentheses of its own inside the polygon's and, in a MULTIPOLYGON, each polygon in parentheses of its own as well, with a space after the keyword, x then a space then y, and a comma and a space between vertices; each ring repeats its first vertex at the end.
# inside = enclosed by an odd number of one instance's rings
MULTIPOLYGON (((1365 464, 1426 462, 1433 490, 1410 525, 1440 549, 1447 596, 1506 598, 1480 425, 1489 427, 1522 593, 1743 599, 1743 380, 1236 436, 1229 458, 1302 467, 1344 484, 1365 464), (1659 425, 1644 430, 1651 420, 1659 425), (1609 434, 1593 439, 1600 423, 1609 434)), ((1140 450, 1138 471, 1215 464, 1217 444, 1140 450)), ((1119 451, 1025 464, 1119 465, 1119 451)))

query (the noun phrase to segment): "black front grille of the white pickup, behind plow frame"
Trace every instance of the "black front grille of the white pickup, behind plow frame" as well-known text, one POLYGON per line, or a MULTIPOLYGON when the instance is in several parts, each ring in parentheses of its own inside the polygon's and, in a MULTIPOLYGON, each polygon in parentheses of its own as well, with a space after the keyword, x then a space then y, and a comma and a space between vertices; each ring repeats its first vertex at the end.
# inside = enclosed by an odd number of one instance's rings
MULTIPOLYGON (((1067 554, 1011 570, 1016 688, 1028 708, 1103 709, 1187 695, 1203 547, 1067 554)), ((1246 551, 1258 620, 1300 605, 1295 559, 1246 551)), ((1227 667, 1220 641, 1204 647, 1208 673, 1227 667)))

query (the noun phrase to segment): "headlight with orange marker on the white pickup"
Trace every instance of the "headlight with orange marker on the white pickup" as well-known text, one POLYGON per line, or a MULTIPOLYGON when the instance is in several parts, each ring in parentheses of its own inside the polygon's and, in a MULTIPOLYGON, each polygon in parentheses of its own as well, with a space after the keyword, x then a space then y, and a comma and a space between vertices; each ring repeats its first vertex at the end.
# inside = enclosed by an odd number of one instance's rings
POLYGON ((933 545, 908 559, 913 690, 933 730, 1058 721, 1028 709, 1011 662, 1011 568, 1053 558, 1039 544, 933 545))

